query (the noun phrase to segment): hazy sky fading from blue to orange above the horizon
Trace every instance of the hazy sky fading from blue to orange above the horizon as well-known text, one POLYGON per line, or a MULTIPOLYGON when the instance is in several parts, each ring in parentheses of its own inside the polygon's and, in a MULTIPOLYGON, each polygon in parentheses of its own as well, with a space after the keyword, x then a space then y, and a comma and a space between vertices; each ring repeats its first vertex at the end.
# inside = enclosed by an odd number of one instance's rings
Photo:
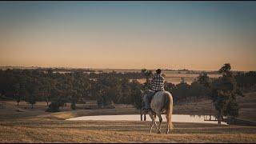
POLYGON ((0 2, 0 66, 256 70, 256 2, 0 2))

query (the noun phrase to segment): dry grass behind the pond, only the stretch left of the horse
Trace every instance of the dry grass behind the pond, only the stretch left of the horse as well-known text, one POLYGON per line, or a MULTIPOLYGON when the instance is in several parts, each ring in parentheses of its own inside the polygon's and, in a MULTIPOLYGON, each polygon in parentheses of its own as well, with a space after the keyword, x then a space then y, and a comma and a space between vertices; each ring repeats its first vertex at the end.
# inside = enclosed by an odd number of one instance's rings
POLYGON ((77 110, 70 110, 70 104, 63 106, 61 112, 50 113, 45 112, 47 106, 46 102, 38 102, 34 105, 34 109, 26 102, 20 102, 19 106, 14 101, 0 102, 0 121, 1 120, 65 120, 67 118, 74 118, 86 115, 102 115, 102 114, 139 114, 133 106, 116 105, 115 109, 102 109, 102 110, 84 110, 83 104, 78 104, 77 110))

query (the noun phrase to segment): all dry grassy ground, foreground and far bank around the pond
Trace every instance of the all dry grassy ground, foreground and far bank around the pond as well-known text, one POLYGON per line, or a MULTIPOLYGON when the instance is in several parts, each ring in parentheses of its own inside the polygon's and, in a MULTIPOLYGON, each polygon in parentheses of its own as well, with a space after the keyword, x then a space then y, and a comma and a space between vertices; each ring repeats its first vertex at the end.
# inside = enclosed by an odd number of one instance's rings
MULTIPOLYGON (((238 98, 241 117, 254 120, 255 94, 238 98)), ((174 114, 203 114, 210 110, 210 101, 181 103, 174 114)), ((38 102, 29 109, 26 102, 0 102, 0 142, 256 142, 255 126, 218 126, 206 123, 174 122, 170 134, 150 134, 150 122, 132 121, 66 121, 83 115, 139 114, 132 106, 117 105, 115 109, 70 110, 47 113, 46 103, 38 102)), ((162 124, 162 132, 166 122, 162 124)))

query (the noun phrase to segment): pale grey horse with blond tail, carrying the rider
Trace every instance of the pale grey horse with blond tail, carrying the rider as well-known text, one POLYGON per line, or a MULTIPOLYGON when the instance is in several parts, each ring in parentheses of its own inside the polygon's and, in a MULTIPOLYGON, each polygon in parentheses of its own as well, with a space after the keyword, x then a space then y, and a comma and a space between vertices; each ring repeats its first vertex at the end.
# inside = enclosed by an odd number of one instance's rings
MULTIPOLYGON (((146 95, 149 93, 152 93, 152 90, 145 90, 142 91, 142 98, 143 101, 146 98, 146 95)), ((169 133, 169 130, 173 129, 173 124, 171 122, 171 117, 173 114, 173 97, 170 94, 170 92, 166 90, 158 91, 156 94, 154 94, 154 97, 152 98, 150 102, 151 110, 148 112, 150 115, 150 118, 152 119, 151 125, 150 125, 150 134, 152 131, 152 127, 154 126, 156 130, 158 130, 158 134, 161 134, 161 123, 162 123, 162 116, 161 114, 166 114, 166 121, 167 121, 167 129, 166 134, 169 133), (155 122, 156 115, 159 118, 159 127, 157 126, 155 122)))

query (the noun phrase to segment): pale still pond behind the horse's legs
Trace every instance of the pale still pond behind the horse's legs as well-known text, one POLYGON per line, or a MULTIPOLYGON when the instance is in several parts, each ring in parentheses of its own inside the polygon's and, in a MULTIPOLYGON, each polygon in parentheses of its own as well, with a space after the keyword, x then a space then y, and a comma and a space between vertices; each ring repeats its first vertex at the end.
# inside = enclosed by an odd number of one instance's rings
MULTIPOLYGON (((144 115, 143 115, 144 118, 144 115)), ((77 118, 66 119, 68 121, 78 121, 78 120, 101 120, 101 121, 140 121, 140 114, 129 114, 129 115, 98 115, 98 116, 83 116, 77 118)), ((157 122, 159 121, 156 118, 157 122)), ((146 114, 146 121, 151 121, 150 116, 146 114)), ((162 114, 162 121, 166 122, 165 115, 162 114)), ((197 123, 214 123, 217 124, 217 121, 204 121, 204 116, 199 115, 185 115, 185 114, 173 114, 172 122, 197 122, 197 123)), ((226 122, 222 122, 226 125, 226 122)))

